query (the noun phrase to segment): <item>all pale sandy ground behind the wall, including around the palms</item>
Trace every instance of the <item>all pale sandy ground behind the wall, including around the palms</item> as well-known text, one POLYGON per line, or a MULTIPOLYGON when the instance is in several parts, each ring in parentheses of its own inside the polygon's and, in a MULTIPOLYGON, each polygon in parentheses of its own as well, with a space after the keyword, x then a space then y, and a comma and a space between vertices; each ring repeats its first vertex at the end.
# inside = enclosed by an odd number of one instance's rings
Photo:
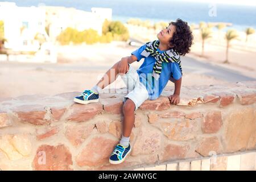
MULTIPOLYGON (((151 39, 154 38, 153 33, 150 32, 151 39)), ((197 36, 191 53, 186 56, 235 69, 245 76, 256 78, 256 48, 253 41, 250 40, 247 47, 242 46, 244 43, 234 42, 229 52, 230 64, 222 63, 225 60, 226 50, 224 40, 217 43, 207 40, 205 56, 200 57, 201 42, 197 36)), ((86 44, 59 46, 57 47, 59 51, 57 64, 0 62, 0 100, 26 94, 53 95, 90 89, 114 63, 122 57, 129 56, 137 48, 129 46, 125 42, 92 46, 86 44)), ((132 66, 138 68, 141 64, 142 61, 136 61, 132 66)), ((182 85, 210 85, 225 82, 206 75, 186 73, 182 85)), ((168 82, 168 85, 174 86, 174 83, 168 82)), ((110 88, 122 86, 124 84, 120 77, 109 85, 110 88)))

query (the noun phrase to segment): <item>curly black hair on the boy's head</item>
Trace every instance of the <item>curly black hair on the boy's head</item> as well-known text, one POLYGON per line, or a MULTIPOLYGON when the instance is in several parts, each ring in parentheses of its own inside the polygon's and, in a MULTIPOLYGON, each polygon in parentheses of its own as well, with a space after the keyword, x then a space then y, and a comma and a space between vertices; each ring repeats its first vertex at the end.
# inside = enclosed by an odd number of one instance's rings
POLYGON ((192 31, 188 26, 188 23, 179 18, 176 22, 170 22, 169 26, 170 24, 175 26, 176 31, 169 43, 174 46, 174 49, 179 53, 179 55, 185 56, 186 53, 191 51, 190 47, 193 43, 192 31))

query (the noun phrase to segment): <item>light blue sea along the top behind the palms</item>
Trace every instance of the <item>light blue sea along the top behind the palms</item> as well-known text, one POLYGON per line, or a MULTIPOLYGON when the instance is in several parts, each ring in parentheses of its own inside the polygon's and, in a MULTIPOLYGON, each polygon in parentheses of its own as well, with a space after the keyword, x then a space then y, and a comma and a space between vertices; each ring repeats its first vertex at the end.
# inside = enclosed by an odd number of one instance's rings
MULTIPOLYGON (((1 1, 1 0, 0 0, 1 1)), ((126 23, 130 18, 150 20, 152 23, 171 22, 180 18, 189 24, 200 22, 226 22, 238 31, 247 27, 256 29, 256 6, 227 5, 177 0, 13 0, 17 6, 64 6, 91 11, 92 7, 113 10, 113 20, 126 23)), ((224 29, 224 30, 225 30, 224 29)))

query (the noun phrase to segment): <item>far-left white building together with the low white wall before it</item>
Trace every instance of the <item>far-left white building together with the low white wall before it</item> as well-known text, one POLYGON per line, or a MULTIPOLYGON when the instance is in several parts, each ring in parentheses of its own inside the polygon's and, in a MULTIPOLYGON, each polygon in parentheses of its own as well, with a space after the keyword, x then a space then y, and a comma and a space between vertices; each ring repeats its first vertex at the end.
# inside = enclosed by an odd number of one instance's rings
POLYGON ((4 23, 4 36, 7 39, 5 48, 9 49, 9 61, 57 62, 56 48, 49 42, 45 30, 44 9, 0 2, 0 20, 4 23))

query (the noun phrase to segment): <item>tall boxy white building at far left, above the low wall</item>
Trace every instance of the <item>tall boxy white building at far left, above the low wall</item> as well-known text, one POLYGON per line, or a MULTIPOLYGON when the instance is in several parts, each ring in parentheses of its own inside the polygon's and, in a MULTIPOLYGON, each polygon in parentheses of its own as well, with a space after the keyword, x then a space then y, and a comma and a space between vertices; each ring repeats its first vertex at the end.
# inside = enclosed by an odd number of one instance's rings
POLYGON ((12 2, 0 2, 0 20, 4 22, 5 47, 13 51, 37 51, 36 34, 46 40, 46 15, 39 7, 18 7, 12 2))

